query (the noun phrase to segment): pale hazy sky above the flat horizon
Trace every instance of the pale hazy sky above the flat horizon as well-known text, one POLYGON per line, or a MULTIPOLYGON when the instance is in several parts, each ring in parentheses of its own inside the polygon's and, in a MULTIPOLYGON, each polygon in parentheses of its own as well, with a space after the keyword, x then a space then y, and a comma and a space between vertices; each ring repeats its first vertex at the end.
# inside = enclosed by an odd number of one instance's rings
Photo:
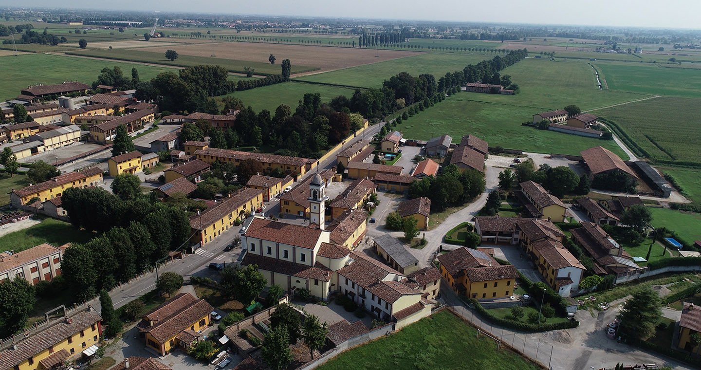
MULTIPOLYGON (((56 7, 58 4, 60 2, 55 0, 32 0, 23 4, 0 0, 0 6, 56 7)), ((699 0, 71 0, 62 4, 70 8, 132 11, 681 29, 701 27, 699 0)))

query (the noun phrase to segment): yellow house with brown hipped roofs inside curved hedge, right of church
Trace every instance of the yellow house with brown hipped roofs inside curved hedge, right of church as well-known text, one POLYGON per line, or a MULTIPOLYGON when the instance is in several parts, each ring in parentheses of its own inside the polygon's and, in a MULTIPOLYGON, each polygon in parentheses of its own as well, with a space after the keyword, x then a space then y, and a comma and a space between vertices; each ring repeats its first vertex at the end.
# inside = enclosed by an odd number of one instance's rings
POLYGON ((438 255, 440 273, 456 294, 477 300, 500 299, 514 292, 518 272, 513 265, 500 265, 477 249, 460 247, 438 255))

